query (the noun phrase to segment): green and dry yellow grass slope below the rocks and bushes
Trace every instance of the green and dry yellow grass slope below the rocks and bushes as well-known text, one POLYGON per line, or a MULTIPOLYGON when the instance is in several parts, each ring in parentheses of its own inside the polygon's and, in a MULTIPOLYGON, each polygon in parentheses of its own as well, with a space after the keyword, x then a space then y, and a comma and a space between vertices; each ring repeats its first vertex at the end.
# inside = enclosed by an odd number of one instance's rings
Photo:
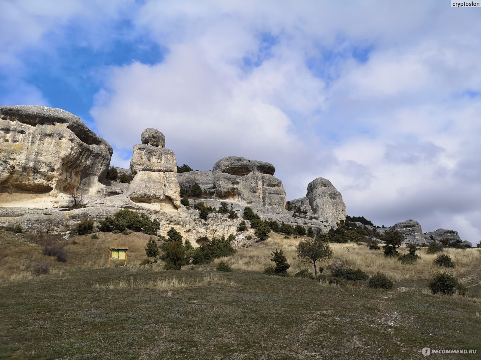
POLYGON ((71 239, 70 261, 60 264, 24 235, 1 231, 0 254, 9 258, 0 262, 0 359, 419 359, 427 346, 481 351, 477 249, 453 250, 452 272, 468 297, 445 297, 427 291, 435 268, 422 252, 424 263, 402 265, 333 244, 354 267, 392 276, 386 291, 260 274, 276 248, 288 254, 290 272, 303 267, 292 259, 299 239, 274 235, 227 258, 234 273, 219 273, 215 264, 142 268, 148 238, 71 239), (114 241, 127 243, 131 266, 103 268, 114 241), (45 276, 30 277, 21 265, 46 259, 55 271, 45 276))

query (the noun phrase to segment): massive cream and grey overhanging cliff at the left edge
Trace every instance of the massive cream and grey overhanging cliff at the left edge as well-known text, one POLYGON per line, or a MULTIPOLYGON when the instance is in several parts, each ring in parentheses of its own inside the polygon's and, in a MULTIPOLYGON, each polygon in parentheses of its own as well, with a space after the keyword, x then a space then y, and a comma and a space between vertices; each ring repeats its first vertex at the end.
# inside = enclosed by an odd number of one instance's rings
POLYGON ((94 192, 112 147, 75 115, 43 106, 0 107, 0 204, 94 192))

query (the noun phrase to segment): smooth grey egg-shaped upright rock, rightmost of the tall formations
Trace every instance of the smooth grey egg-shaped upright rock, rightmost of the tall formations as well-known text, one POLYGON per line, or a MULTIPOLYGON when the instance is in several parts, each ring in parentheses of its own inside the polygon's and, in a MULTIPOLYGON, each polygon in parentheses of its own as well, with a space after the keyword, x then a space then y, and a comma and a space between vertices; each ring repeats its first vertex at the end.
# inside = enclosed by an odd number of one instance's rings
POLYGON ((333 228, 342 228, 346 221, 346 205, 331 182, 317 178, 307 185, 307 199, 313 213, 333 228))

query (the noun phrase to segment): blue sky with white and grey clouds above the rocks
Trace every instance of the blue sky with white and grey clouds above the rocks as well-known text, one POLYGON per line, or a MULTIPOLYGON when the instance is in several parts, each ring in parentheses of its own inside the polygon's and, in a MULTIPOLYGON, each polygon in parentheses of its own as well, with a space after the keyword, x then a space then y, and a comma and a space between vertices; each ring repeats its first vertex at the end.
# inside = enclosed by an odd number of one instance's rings
POLYGON ((0 105, 77 116, 128 167, 271 162, 348 215, 481 240, 481 8, 445 1, 0 0, 0 105))

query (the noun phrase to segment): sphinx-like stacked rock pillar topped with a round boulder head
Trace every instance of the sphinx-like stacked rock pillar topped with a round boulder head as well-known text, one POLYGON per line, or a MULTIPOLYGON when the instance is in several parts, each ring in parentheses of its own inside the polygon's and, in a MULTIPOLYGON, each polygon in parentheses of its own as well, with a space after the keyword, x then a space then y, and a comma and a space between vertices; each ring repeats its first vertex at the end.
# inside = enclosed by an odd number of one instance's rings
POLYGON ((162 132, 147 129, 142 143, 133 148, 130 169, 135 175, 126 195, 134 203, 151 210, 177 214, 180 189, 177 181, 177 161, 174 152, 165 149, 162 132))

